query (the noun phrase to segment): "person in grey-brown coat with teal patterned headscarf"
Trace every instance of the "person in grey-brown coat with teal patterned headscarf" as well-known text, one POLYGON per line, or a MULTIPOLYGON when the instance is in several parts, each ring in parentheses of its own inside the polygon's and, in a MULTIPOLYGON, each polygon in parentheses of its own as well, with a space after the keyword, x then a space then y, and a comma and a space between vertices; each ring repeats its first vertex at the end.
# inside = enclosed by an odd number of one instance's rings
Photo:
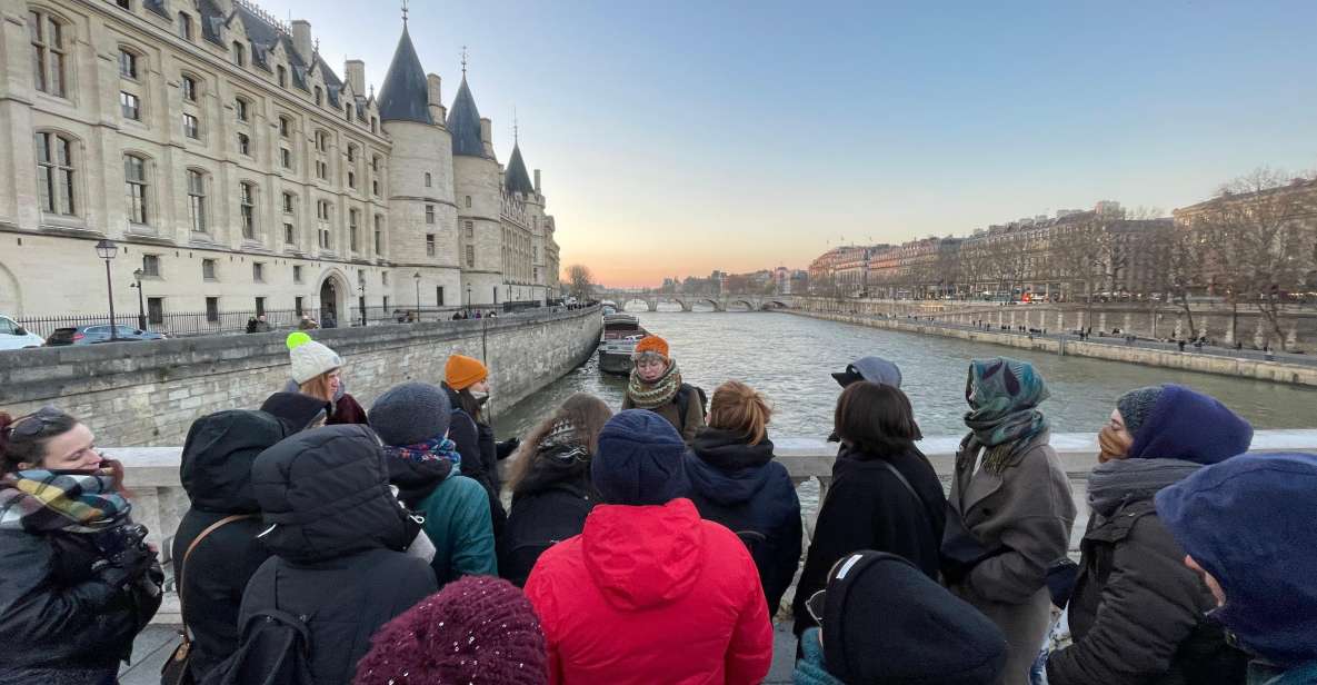
POLYGON ((1047 397, 1029 362, 971 362, 969 433, 956 453, 942 541, 951 590, 1006 635, 1006 684, 1029 681, 1051 623, 1047 570, 1065 559, 1075 523, 1069 478, 1038 410, 1047 397))

